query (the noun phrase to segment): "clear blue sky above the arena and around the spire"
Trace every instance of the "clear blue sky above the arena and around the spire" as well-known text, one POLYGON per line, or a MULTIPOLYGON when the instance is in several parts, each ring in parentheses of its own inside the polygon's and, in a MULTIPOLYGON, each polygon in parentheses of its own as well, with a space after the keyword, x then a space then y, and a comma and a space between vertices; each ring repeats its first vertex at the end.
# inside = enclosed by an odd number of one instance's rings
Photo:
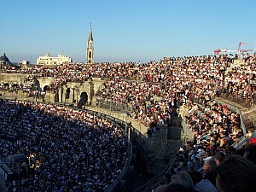
POLYGON ((0 54, 36 62, 62 53, 85 61, 92 23, 95 61, 160 61, 256 43, 255 0, 1 1, 0 54))

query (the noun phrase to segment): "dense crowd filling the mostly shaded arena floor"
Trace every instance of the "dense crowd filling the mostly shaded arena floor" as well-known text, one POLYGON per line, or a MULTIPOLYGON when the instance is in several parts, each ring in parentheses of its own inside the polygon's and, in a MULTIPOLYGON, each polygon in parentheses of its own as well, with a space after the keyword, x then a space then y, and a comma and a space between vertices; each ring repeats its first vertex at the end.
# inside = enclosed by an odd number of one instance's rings
POLYGON ((29 158, 29 191, 105 191, 125 167, 127 137, 106 119, 26 101, 0 108, 0 159, 29 158))

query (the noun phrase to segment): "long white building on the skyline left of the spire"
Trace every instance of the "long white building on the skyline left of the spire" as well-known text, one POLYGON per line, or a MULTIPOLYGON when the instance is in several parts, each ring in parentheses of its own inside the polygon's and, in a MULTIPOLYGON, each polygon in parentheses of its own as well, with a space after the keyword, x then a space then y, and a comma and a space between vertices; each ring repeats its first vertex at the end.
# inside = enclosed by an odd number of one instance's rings
POLYGON ((39 56, 37 65, 61 65, 64 62, 72 62, 72 58, 67 55, 58 54, 58 56, 39 56))

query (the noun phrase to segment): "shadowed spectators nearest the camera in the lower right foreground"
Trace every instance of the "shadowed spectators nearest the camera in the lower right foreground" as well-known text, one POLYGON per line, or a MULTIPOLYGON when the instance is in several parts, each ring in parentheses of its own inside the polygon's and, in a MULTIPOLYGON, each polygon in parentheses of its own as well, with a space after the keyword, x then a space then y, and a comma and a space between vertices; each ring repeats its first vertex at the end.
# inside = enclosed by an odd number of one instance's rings
POLYGON ((170 172, 154 192, 255 191, 256 143, 247 143, 246 148, 239 150, 219 146, 203 154, 202 151, 196 144, 179 150, 170 172))

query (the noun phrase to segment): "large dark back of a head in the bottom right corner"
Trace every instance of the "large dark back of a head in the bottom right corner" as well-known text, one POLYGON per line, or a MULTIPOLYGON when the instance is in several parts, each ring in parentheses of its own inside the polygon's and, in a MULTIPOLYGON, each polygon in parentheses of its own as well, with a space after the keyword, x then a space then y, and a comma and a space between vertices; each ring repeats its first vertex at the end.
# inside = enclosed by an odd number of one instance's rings
POLYGON ((219 192, 255 192, 256 166, 241 155, 230 155, 216 169, 219 192))

